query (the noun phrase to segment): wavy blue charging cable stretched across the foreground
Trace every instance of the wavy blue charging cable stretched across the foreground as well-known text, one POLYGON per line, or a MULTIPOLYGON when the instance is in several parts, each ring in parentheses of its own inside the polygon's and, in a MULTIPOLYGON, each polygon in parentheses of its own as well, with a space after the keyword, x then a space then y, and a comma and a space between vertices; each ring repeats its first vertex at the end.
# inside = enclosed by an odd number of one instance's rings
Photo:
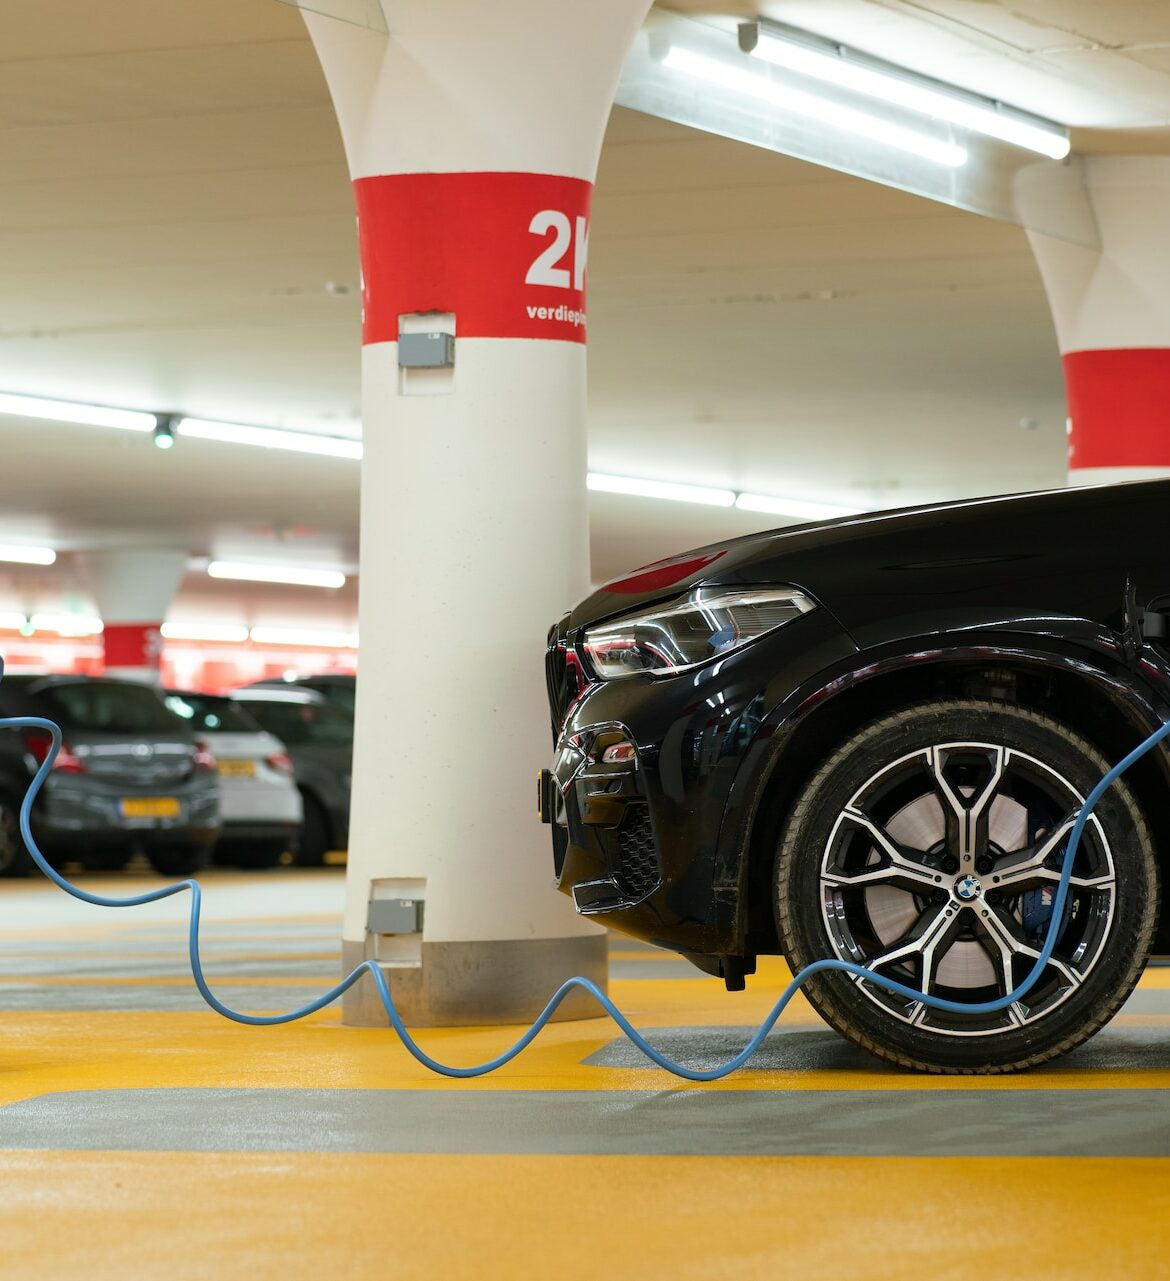
POLYGON ((74 898, 79 898, 83 903, 92 903, 95 907, 138 907, 142 903, 156 903, 159 899, 169 898, 172 894, 181 894, 183 890, 191 892, 191 921, 187 929, 187 954, 191 961, 191 974, 195 977, 195 986, 199 988, 200 995, 204 1000, 224 1018, 231 1018, 237 1024, 247 1024, 251 1027, 268 1027, 274 1024, 291 1024, 296 1022, 299 1018, 306 1018, 309 1015, 315 1015, 319 1009, 324 1009, 325 1006, 332 1004, 337 1000, 342 993, 347 991, 354 986, 355 983, 363 976, 363 974, 369 974, 378 988, 378 995, 382 998, 382 1004, 386 1007, 386 1013, 390 1018, 390 1024, 397 1032, 399 1039, 406 1047, 406 1049, 423 1065, 423 1067, 429 1068, 432 1072, 438 1072, 441 1076, 454 1076, 454 1077, 472 1077, 472 1076, 486 1076, 488 1072, 495 1072, 497 1068, 504 1067, 505 1063, 510 1063, 519 1053, 527 1049, 532 1041, 540 1035, 545 1024, 552 1017, 556 1007, 569 995, 574 989, 587 991, 601 1008, 610 1016, 610 1018, 622 1029, 623 1032, 638 1047, 638 1049, 659 1067, 664 1067, 668 1072, 673 1072, 675 1076, 680 1076, 687 1081, 718 1081, 720 1077, 729 1076, 737 1068, 743 1067, 743 1065, 755 1054, 755 1052, 764 1043, 764 1039, 775 1026, 777 1020, 784 1012, 786 1006, 796 995, 796 993, 814 976, 818 974, 828 974, 829 971, 839 971, 841 974, 851 974, 857 979, 866 979, 874 985, 892 991, 896 995, 906 997, 911 1000, 921 1002, 929 1006, 932 1009, 943 1009, 948 1013, 955 1015, 992 1015, 1001 1009, 1006 1009, 1010 1004, 1025 997, 1039 981, 1041 974, 1047 966, 1052 952, 1056 948, 1057 936, 1061 931, 1064 922, 1065 903, 1069 897, 1069 883, 1073 876, 1073 863, 1076 858, 1076 849, 1080 844, 1080 836, 1084 831, 1085 824, 1089 821, 1089 816, 1097 806, 1097 802, 1102 796, 1112 787, 1117 778, 1120 778, 1135 761, 1139 761, 1147 752, 1149 752, 1155 746, 1162 742, 1165 738, 1170 738, 1170 721, 1161 725, 1153 734, 1151 734, 1143 743, 1139 743, 1124 760, 1119 761, 1105 778, 1089 792, 1085 797, 1084 804, 1080 807, 1080 812, 1076 815, 1076 820, 1073 824, 1073 830, 1069 834, 1069 844, 1065 849, 1064 863, 1061 867, 1060 881, 1057 883, 1056 895, 1052 902, 1052 916, 1048 920, 1048 929, 1044 935, 1044 945, 1041 948, 1039 956, 1035 958, 1035 963, 1028 972, 1028 976, 1020 983, 1014 991, 1009 991, 1006 995, 997 998, 996 1000, 980 1000, 980 1002, 961 1002, 961 1000, 946 1000, 942 997, 932 997, 927 993, 919 991, 918 988, 909 988, 906 984, 896 983, 893 979, 887 979, 883 975, 874 974, 873 970, 866 970, 864 966, 853 965, 851 961, 814 961, 811 965, 805 966, 803 970, 797 974, 788 986, 780 993, 779 999, 771 1007, 768 1017, 760 1025, 759 1031, 751 1038, 751 1040, 739 1050, 734 1058, 728 1059, 720 1067, 713 1067, 706 1071, 698 1071, 692 1067, 687 1067, 683 1063, 677 1063, 674 1059, 668 1058, 660 1050, 655 1049, 650 1041, 630 1024, 630 1021, 622 1013, 622 1011, 610 1000, 610 998, 588 979, 575 977, 566 979, 552 994, 548 1004, 541 1011, 533 1025, 524 1032, 523 1036, 513 1045, 510 1045, 502 1054, 497 1054, 495 1058, 487 1059, 484 1063, 477 1063, 473 1067, 452 1067, 449 1063, 441 1063, 437 1058, 432 1058, 419 1044, 414 1040, 402 1022, 401 1015, 395 1008, 393 998, 390 994, 390 984, 386 981, 386 975, 382 972, 379 966, 374 961, 363 961, 361 965, 356 967, 351 974, 346 975, 337 986, 331 988, 323 995, 318 997, 317 1000, 309 1002, 308 1006, 302 1006, 300 1009, 293 1009, 287 1015, 243 1015, 236 1009, 226 1006, 211 989, 208 986, 208 980, 204 977, 202 961, 200 959, 199 952, 199 922, 200 913, 202 910, 202 889, 196 880, 183 880, 176 881, 174 885, 165 885, 163 889, 151 890, 149 894, 135 894, 131 898, 106 898, 103 894, 91 894, 88 890, 79 889, 70 881, 65 880, 60 872, 53 867, 45 856, 37 847, 36 840, 32 835, 32 803, 36 799, 37 793, 41 789, 49 771, 53 769, 53 762, 56 760, 56 753, 62 743, 60 729, 50 720, 44 720, 40 716, 14 716, 8 719, 0 719, 0 728, 13 728, 13 729, 44 729, 47 730, 53 738, 53 746, 33 776, 32 783, 28 785, 28 790, 24 794, 24 801, 21 804, 21 835, 24 838, 24 844, 28 847, 28 852, 32 854, 37 867, 56 885, 59 885, 67 894, 72 894, 74 898))

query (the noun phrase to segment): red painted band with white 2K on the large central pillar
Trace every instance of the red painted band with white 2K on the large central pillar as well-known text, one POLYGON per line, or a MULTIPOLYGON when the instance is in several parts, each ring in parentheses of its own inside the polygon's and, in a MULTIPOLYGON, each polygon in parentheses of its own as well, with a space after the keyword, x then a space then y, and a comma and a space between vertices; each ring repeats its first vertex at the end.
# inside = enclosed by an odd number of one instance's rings
POLYGON ((451 311, 459 338, 586 341, 593 184, 546 173, 359 178, 361 341, 451 311))

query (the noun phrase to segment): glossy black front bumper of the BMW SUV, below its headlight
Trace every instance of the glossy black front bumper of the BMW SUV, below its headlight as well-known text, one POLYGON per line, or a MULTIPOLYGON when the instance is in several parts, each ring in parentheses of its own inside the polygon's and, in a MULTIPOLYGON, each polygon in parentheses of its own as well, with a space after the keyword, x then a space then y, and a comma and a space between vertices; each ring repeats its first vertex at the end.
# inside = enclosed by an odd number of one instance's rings
POLYGON ((540 797, 556 884, 582 915, 728 976, 751 951, 746 851, 774 735, 853 646, 814 610, 719 662, 596 681, 563 628, 546 656, 556 748, 540 797), (628 758, 606 761, 619 743, 628 758))

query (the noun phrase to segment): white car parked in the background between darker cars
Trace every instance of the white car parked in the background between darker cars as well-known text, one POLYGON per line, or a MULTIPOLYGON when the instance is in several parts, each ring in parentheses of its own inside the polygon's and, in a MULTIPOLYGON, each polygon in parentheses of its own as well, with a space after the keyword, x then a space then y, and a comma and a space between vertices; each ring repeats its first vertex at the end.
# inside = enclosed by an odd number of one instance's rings
POLYGON ((222 831, 217 862, 274 867, 300 843, 304 807, 284 744, 233 698, 169 689, 167 706, 215 757, 222 831))

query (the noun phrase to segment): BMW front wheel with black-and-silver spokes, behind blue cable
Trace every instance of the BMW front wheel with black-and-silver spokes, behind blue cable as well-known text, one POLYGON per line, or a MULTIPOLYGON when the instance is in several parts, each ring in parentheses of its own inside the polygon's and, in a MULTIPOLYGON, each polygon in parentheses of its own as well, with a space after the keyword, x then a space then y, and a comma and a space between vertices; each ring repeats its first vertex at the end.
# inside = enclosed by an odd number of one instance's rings
MULTIPOLYGON (((805 787, 782 835, 789 965, 838 957, 950 1000, 1006 995, 1039 954, 1073 820, 1108 765, 1057 721, 1001 703, 929 703, 869 725, 805 787)), ((1073 871, 1051 961, 998 1013, 934 1011, 846 974, 805 993, 845 1036, 907 1067, 1044 1062, 1115 1013, 1149 954, 1158 874, 1124 781, 1097 804, 1073 871)))

